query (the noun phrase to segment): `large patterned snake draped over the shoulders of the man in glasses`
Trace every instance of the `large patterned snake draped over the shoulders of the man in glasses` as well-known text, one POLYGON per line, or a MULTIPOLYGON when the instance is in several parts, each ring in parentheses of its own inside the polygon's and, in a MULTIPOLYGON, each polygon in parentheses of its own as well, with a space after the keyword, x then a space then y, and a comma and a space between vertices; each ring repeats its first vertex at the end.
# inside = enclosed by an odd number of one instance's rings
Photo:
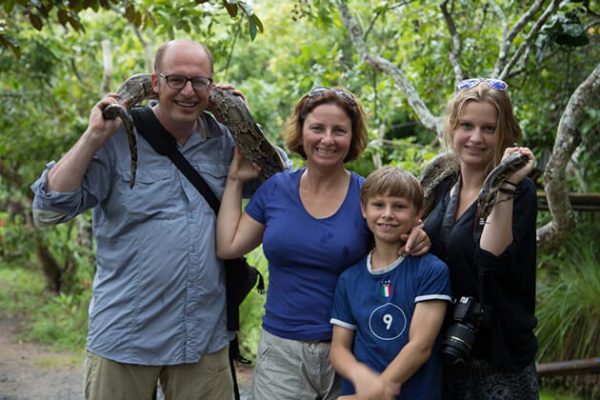
MULTIPOLYGON (((136 134, 129 110, 143 100, 158 99, 152 90, 150 76, 150 74, 133 75, 119 86, 117 96, 121 101, 127 101, 127 107, 115 103, 102 111, 106 119, 120 118, 123 121, 131 153, 131 187, 135 184, 138 160, 136 134)), ((239 96, 232 94, 229 90, 212 88, 208 111, 215 116, 217 121, 229 128, 244 157, 261 167, 261 181, 284 170, 285 166, 279 153, 265 138, 260 125, 254 121, 246 103, 239 96)))

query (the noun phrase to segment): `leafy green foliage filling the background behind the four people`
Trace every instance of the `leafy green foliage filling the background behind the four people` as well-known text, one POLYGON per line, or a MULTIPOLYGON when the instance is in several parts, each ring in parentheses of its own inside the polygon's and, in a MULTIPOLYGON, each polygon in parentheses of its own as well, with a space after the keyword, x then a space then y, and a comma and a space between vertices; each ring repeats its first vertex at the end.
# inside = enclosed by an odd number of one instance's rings
MULTIPOLYGON (((260 10, 260 20, 247 7, 249 3, 232 0, 52 2, 54 8, 46 19, 36 7, 49 3, 12 0, 3 2, 4 8, 0 10, 0 167, 4 168, 0 176, 0 204, 7 205, 0 212, 0 221, 4 222, 0 226, 0 252, 4 261, 12 263, 12 275, 4 275, 8 274, 6 268, 0 271, 3 282, 0 307, 12 315, 27 310, 24 314, 37 321, 31 329, 36 337, 62 341, 61 332, 73 332, 72 337, 65 339, 73 343, 70 345, 73 348, 82 348, 85 338, 85 310, 94 274, 89 214, 79 217, 77 222, 45 231, 34 230, 29 216, 29 184, 47 161, 58 159, 85 129, 89 110, 100 97, 102 40, 108 39, 113 45, 113 89, 131 74, 148 71, 146 49, 140 39, 148 43, 149 53, 163 41, 176 37, 205 42, 215 57, 216 80, 233 83, 246 95, 257 121, 269 138, 280 145, 281 127, 302 95, 314 86, 348 88, 359 97, 367 113, 369 146, 363 157, 349 165, 363 176, 371 172, 376 159, 418 175, 425 163, 440 151, 433 132, 418 122, 396 82, 360 61, 335 2, 256 0, 253 4, 260 10), (61 17, 61 8, 69 13, 61 17), (40 16, 40 21, 30 15, 40 16), (71 20, 78 21, 85 30, 78 29, 77 22, 71 20), (244 30, 249 34, 240 34, 244 30), (9 173, 5 174, 6 171, 9 173), (56 300, 50 300, 52 296, 43 291, 41 273, 36 272, 39 266, 33 249, 39 242, 49 247, 61 267, 69 271, 65 291, 56 300), (6 289, 7 281, 18 290, 6 289)), ((434 114, 441 114, 455 82, 447 56, 452 43, 438 2, 352 0, 349 3, 361 21, 371 50, 401 66, 425 105, 434 114)), ((499 51, 502 19, 485 2, 452 3, 462 40, 461 67, 469 76, 489 75, 499 51)), ((516 1, 496 3, 509 26, 529 6, 516 1)), ((597 27, 585 31, 590 44, 576 49, 558 39, 564 34, 579 38, 579 27, 589 26, 591 19, 591 13, 580 6, 591 7, 595 3, 562 4, 560 12, 546 23, 543 30, 546 36, 539 39, 529 54, 526 67, 508 78, 515 112, 525 135, 521 144, 533 147, 536 154, 552 148, 558 121, 570 95, 600 59, 600 47, 595 45, 597 27)), ((597 14, 598 10, 594 12, 597 14)), ((530 29, 531 24, 525 31, 530 29)), ((522 37, 515 41, 516 46, 522 43, 522 37)), ((585 113, 579 127, 585 151, 573 157, 576 161, 573 169, 578 172, 566 173, 572 190, 598 191, 600 111, 589 107, 585 113)), ((302 164, 299 158, 294 158, 294 162, 296 166, 302 164)), ((547 219, 547 215, 541 218, 547 219)), ((586 236, 596 237, 597 234, 586 236)), ((590 246, 597 257, 597 242, 590 246)), ((587 282, 578 282, 582 275, 578 275, 575 266, 568 266, 569 262, 573 264, 574 250, 554 250, 552 254, 540 255, 540 274, 545 275, 540 278, 538 334, 540 354, 548 361, 560 355, 549 353, 557 347, 552 344, 557 341, 560 343, 557 348, 564 347, 565 352, 568 349, 574 353, 569 357, 584 351, 585 345, 591 348, 597 344, 591 337, 590 343, 578 345, 572 332, 564 326, 552 325, 560 322, 553 319, 552 307, 564 313, 568 313, 567 307, 576 310, 573 303, 579 295, 569 295, 569 291, 588 293, 586 307, 598 304, 590 290, 593 279, 585 275, 587 282), (563 265, 567 266, 564 272, 563 265), (573 271, 567 272, 569 269, 573 271), (588 289, 583 288, 585 285, 588 289), (564 298, 552 306, 550 293, 564 298), (553 337, 554 332, 561 332, 556 335, 560 337, 553 337)), ((591 255, 582 257, 577 259, 581 264, 577 268, 588 265, 585 273, 597 276, 588 270, 591 255)), ((267 278, 262 253, 253 252, 250 260, 259 265, 267 278)), ((260 335, 264 299, 252 291, 242 306, 240 338, 242 351, 250 358, 254 357, 260 335)), ((580 311, 597 313, 592 308, 580 311)), ((598 315, 594 315, 597 319, 598 315)), ((591 320, 583 321, 580 315, 573 318, 573 323, 588 329, 593 327, 591 320)))

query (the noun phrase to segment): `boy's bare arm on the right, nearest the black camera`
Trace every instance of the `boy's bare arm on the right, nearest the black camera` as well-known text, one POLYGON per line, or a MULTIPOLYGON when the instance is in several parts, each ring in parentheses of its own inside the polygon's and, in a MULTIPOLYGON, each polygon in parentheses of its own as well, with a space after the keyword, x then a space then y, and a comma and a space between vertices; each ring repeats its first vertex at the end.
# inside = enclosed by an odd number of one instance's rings
POLYGON ((422 301, 417 303, 410 322, 408 343, 383 371, 389 381, 403 384, 431 355, 431 350, 444 321, 445 301, 422 301))

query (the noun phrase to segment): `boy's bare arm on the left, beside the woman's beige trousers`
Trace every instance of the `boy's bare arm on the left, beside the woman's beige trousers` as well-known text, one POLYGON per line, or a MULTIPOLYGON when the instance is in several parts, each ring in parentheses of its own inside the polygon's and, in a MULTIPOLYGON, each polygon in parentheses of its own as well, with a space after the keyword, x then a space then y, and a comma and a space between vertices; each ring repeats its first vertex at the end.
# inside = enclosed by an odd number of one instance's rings
POLYGON ((352 381, 356 390, 355 396, 342 398, 393 400, 400 392, 400 385, 382 379, 380 374, 358 362, 352 354, 353 339, 353 330, 333 325, 331 364, 340 375, 352 381))

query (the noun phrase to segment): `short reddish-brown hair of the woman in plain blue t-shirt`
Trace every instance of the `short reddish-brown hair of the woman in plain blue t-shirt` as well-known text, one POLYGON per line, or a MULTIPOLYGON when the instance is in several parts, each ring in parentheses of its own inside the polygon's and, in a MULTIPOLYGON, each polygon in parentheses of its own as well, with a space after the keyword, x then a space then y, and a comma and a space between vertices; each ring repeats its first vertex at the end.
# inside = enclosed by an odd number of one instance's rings
POLYGON ((302 127, 308 114, 323 104, 337 105, 350 118, 352 138, 344 162, 357 159, 367 146, 365 113, 356 96, 343 88, 318 88, 302 96, 283 129, 286 146, 306 160, 306 152, 302 146, 302 127))

